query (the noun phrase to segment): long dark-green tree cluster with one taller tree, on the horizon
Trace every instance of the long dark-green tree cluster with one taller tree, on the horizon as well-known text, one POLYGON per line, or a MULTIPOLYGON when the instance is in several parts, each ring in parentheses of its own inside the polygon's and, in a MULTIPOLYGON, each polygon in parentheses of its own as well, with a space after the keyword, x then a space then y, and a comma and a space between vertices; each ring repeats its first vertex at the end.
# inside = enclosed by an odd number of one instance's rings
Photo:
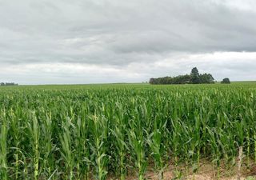
POLYGON ((199 74, 198 68, 194 67, 190 74, 176 77, 150 78, 150 84, 211 84, 214 77, 211 74, 199 74))

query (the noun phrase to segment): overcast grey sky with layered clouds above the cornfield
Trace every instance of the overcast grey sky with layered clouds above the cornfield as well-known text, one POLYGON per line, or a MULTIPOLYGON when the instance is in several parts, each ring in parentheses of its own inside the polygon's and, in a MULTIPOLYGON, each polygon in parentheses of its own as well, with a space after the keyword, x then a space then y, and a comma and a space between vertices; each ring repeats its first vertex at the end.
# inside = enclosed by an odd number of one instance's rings
POLYGON ((256 80, 255 0, 0 0, 0 82, 256 80))

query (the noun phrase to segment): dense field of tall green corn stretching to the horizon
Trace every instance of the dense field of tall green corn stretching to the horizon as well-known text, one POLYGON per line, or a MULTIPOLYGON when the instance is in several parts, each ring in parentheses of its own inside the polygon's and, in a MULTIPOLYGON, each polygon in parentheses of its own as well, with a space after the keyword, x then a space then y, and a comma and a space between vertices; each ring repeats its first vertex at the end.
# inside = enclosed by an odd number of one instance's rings
POLYGON ((256 82, 0 87, 0 179, 163 179, 256 162, 256 82), (186 170, 179 167, 184 166, 186 170))

